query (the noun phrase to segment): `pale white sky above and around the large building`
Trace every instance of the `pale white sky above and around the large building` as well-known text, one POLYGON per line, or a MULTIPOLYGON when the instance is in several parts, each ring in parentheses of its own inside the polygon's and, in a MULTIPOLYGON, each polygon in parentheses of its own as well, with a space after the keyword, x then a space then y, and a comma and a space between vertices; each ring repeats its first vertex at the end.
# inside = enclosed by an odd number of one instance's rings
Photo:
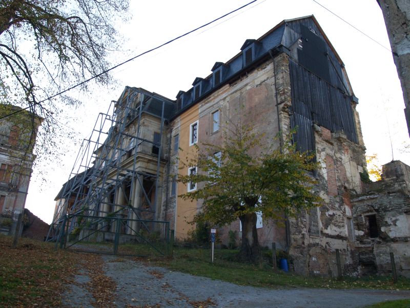
MULTIPOLYGON (((345 21, 390 49, 381 10, 376 0, 317 0, 345 21)), ((207 2, 131 0, 127 24, 119 31, 127 38, 113 55, 117 64, 172 38, 206 24, 250 2, 224 0, 207 2)), ((115 88, 91 87, 86 97, 71 92, 84 104, 75 110, 65 108, 64 129, 74 131, 77 139, 61 141, 66 155, 63 164, 39 166, 32 175, 26 207, 51 223, 61 185, 69 178, 81 141, 89 135, 98 112, 106 112, 125 86, 145 88, 175 99, 179 90, 188 90, 196 77, 206 77, 215 62, 226 62, 240 51, 248 38, 258 38, 284 19, 315 15, 320 26, 345 64, 348 78, 359 98, 361 128, 366 153, 377 153, 380 164, 395 160, 410 165, 410 153, 400 151, 409 143, 404 118, 403 94, 391 51, 358 32, 313 0, 259 0, 233 15, 192 33, 159 50, 117 68, 115 88), (47 183, 39 178, 47 169, 47 183)))

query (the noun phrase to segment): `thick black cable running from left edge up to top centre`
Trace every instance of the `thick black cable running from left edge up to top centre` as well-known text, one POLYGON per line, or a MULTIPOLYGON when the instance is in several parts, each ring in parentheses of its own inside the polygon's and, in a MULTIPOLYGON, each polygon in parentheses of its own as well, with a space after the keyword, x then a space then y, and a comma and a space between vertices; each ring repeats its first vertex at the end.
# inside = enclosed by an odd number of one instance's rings
POLYGON ((257 2, 257 1, 258 1, 258 0, 253 0, 253 1, 251 1, 251 2, 249 2, 249 3, 247 3, 247 4, 245 4, 245 5, 243 5, 243 6, 239 7, 239 8, 237 8, 237 9, 235 9, 235 10, 233 10, 233 11, 227 13, 227 14, 224 14, 224 15, 222 15, 222 16, 216 18, 215 20, 213 20, 213 21, 211 21, 211 22, 209 22, 209 23, 206 23, 206 24, 204 24, 204 25, 202 25, 202 26, 200 26, 200 27, 198 27, 198 28, 195 28, 195 29, 193 29, 193 30, 191 30, 191 31, 189 31, 189 32, 186 32, 185 34, 179 35, 179 36, 173 38, 172 40, 170 40, 170 41, 168 41, 168 42, 166 42, 166 43, 163 43, 163 44, 161 44, 161 45, 159 45, 159 46, 157 46, 157 47, 154 47, 154 48, 149 49, 149 50, 147 50, 147 51, 144 51, 144 52, 142 52, 142 53, 140 53, 140 54, 138 54, 138 55, 136 55, 136 56, 134 56, 134 57, 131 57, 130 59, 128 59, 128 60, 126 60, 126 61, 124 61, 124 62, 121 62, 121 63, 119 63, 119 64, 117 64, 117 65, 115 65, 115 66, 113 66, 113 67, 111 67, 111 68, 109 68, 109 69, 107 69, 107 70, 105 70, 105 71, 103 71, 103 72, 97 74, 97 75, 94 75, 94 76, 92 76, 91 78, 89 78, 89 79, 87 79, 87 80, 85 80, 85 81, 83 81, 83 82, 80 82, 80 83, 78 83, 78 84, 76 84, 76 85, 74 85, 74 86, 72 86, 72 87, 69 87, 69 88, 67 88, 67 89, 65 89, 65 90, 63 90, 63 91, 60 91, 60 92, 58 92, 58 93, 52 95, 51 97, 48 97, 48 98, 46 98, 46 99, 44 99, 44 100, 42 100, 42 101, 36 102, 36 103, 34 103, 34 104, 32 104, 32 105, 26 107, 26 108, 19 109, 19 110, 14 111, 14 112, 12 112, 12 113, 10 113, 10 114, 4 115, 3 117, 0 118, 0 120, 3 120, 3 119, 5 119, 5 118, 7 118, 7 117, 10 117, 10 116, 13 115, 13 114, 16 114, 16 113, 18 113, 18 112, 21 112, 21 111, 23 111, 23 110, 26 110, 26 109, 28 109, 28 108, 31 108, 31 107, 33 107, 33 106, 35 106, 35 105, 39 105, 39 104, 41 104, 41 103, 44 103, 44 102, 46 102, 46 101, 49 101, 49 100, 51 100, 51 99, 53 99, 53 98, 55 98, 55 97, 57 97, 57 96, 59 96, 59 95, 65 93, 65 92, 68 92, 68 91, 70 91, 70 90, 72 90, 72 89, 75 89, 75 88, 81 86, 81 85, 84 85, 84 84, 88 83, 89 81, 94 80, 94 79, 98 78, 99 76, 102 76, 102 75, 104 75, 104 74, 106 74, 106 73, 112 71, 113 69, 116 69, 117 67, 120 67, 121 65, 124 65, 124 64, 126 64, 126 63, 128 63, 128 62, 131 62, 131 61, 137 59, 137 57, 140 57, 140 56, 142 56, 142 55, 144 55, 144 54, 147 54, 147 53, 152 52, 152 51, 154 51, 154 50, 157 50, 157 49, 159 49, 159 48, 161 48, 161 47, 163 47, 163 46, 165 46, 165 45, 168 45, 168 44, 170 44, 170 43, 172 43, 172 42, 174 42, 174 41, 176 41, 176 40, 179 40, 179 38, 184 37, 184 36, 187 36, 188 34, 191 34, 191 33, 195 32, 195 31, 197 31, 197 30, 199 30, 199 29, 202 29, 202 28, 204 28, 204 27, 206 27, 206 26, 209 26, 209 25, 211 25, 211 24, 213 24, 213 23, 215 23, 215 22, 221 20, 222 18, 224 18, 224 17, 226 17, 226 16, 228 16, 228 15, 231 15, 231 14, 235 13, 236 11, 239 11, 239 10, 243 9, 244 7, 247 7, 247 6, 253 4, 253 3, 257 2))

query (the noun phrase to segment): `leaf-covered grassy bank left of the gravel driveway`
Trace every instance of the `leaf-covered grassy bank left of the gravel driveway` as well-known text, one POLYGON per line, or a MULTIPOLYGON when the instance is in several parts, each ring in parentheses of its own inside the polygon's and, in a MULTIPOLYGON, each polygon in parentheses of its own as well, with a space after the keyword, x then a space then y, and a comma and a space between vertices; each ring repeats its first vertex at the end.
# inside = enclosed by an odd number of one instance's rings
POLYGON ((64 285, 73 280, 78 254, 55 249, 55 243, 0 236, 2 307, 60 307, 64 285))

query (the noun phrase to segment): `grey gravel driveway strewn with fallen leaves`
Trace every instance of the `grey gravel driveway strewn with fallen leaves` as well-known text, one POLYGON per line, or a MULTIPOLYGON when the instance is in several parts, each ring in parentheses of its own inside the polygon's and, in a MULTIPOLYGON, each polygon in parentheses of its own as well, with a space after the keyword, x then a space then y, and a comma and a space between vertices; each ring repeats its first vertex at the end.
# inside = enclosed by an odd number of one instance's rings
MULTIPOLYGON (((268 289, 172 272, 112 256, 103 256, 105 275, 117 283, 117 307, 363 307, 394 299, 410 298, 410 291, 327 290, 322 288, 268 289)), ((85 289, 87 273, 64 294, 69 307, 91 307, 85 289)))

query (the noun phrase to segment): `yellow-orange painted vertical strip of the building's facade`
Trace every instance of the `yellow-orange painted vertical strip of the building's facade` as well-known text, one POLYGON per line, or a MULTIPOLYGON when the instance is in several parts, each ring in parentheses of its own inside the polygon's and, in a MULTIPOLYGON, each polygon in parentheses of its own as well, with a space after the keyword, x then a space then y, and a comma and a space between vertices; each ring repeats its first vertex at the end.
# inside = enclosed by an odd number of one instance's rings
MULTIPOLYGON (((190 127, 191 124, 198 121, 199 119, 199 104, 195 104, 189 110, 182 113, 179 117, 180 120, 180 130, 179 130, 179 147, 180 150, 178 152, 179 160, 185 161, 186 157, 192 156, 194 153, 195 147, 190 146, 190 127)), ((199 124, 199 123, 198 123, 199 124)), ((199 125, 198 125, 198 132, 199 132, 199 125)), ((197 135, 199 136, 199 134, 197 135)), ((199 142, 200 140, 198 140, 199 142)), ((183 168, 178 170, 178 173, 181 175, 188 175, 188 168, 183 168)), ((188 185, 183 185, 182 183, 178 183, 178 196, 181 194, 186 194, 188 192, 188 185)), ((188 235, 188 231, 193 228, 191 224, 188 222, 192 221, 196 211, 196 201, 191 202, 189 200, 183 200, 182 198, 177 198, 177 205, 176 205, 176 217, 175 217, 175 237, 176 238, 186 238, 188 235)))

